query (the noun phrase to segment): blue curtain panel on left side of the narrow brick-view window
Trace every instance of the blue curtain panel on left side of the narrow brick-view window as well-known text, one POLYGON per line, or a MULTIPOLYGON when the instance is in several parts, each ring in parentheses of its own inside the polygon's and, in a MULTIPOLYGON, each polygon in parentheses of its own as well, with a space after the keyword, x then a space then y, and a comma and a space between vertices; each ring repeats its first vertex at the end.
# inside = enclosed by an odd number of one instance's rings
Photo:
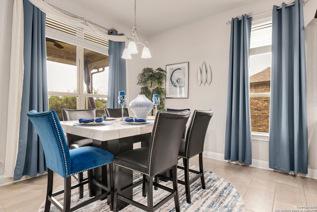
POLYGON ((252 163, 249 49, 251 18, 231 20, 227 121, 224 159, 252 163))

